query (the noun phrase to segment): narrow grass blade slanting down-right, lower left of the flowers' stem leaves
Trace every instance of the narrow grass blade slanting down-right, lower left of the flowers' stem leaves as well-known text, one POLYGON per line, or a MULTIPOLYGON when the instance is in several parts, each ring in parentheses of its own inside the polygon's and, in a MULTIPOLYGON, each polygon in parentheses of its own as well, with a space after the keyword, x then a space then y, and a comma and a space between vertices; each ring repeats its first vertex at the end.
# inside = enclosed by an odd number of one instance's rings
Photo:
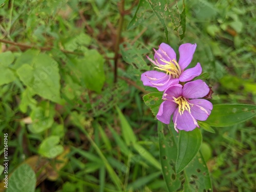
POLYGON ((155 159, 155 157, 151 155, 150 152, 146 151, 146 149, 138 143, 134 143, 133 146, 145 161, 147 161, 157 169, 161 170, 161 164, 159 163, 158 160, 155 159))

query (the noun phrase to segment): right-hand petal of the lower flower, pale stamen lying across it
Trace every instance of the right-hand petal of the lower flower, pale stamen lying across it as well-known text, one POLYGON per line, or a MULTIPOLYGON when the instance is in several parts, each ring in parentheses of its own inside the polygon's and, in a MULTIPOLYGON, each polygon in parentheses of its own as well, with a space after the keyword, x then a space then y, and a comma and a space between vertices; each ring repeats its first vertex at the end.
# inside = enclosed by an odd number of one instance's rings
POLYGON ((190 111, 195 119, 205 121, 208 118, 212 110, 210 101, 205 99, 191 99, 189 103, 194 104, 193 106, 190 105, 190 111))

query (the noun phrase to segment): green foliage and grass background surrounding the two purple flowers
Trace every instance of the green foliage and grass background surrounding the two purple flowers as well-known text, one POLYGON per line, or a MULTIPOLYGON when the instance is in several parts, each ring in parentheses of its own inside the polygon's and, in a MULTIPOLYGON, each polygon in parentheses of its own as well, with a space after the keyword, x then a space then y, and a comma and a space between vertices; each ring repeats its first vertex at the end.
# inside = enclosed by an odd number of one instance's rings
POLYGON ((255 8, 249 0, 0 1, 7 191, 255 191, 255 8), (161 94, 140 81, 161 42, 176 51, 196 43, 191 67, 201 63, 214 91, 214 111, 190 137, 157 125, 161 94), (188 161, 177 146, 194 136, 188 161))

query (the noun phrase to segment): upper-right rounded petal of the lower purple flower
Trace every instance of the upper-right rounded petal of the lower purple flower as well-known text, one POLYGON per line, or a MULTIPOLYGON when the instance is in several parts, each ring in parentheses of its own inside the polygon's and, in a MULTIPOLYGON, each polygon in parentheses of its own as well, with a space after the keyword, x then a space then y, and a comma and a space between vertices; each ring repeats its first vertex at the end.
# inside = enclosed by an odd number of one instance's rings
POLYGON ((185 83, 182 90, 182 96, 187 99, 202 98, 208 93, 209 88, 201 79, 185 83))

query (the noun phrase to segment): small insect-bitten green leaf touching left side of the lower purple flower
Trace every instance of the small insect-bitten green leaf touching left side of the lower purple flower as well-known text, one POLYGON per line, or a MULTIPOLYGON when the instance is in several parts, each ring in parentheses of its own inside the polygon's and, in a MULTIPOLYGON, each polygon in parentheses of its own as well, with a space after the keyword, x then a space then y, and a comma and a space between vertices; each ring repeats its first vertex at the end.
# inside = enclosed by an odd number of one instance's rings
POLYGON ((143 96, 143 100, 145 104, 150 108, 152 111, 153 115, 156 117, 159 106, 163 102, 162 101, 163 93, 148 93, 143 96))

